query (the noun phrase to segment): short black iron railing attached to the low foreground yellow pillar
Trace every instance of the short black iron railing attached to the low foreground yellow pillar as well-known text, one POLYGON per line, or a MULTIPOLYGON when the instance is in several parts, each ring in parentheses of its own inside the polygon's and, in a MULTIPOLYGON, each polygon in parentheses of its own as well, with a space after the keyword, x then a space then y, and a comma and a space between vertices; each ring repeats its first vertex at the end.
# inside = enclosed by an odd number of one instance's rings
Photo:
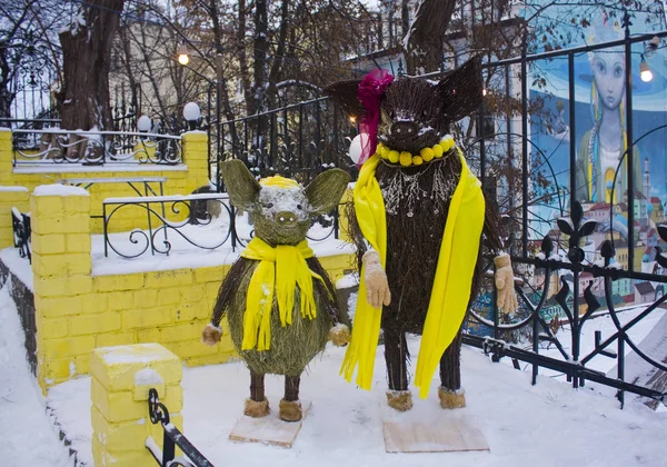
POLYGON ((148 437, 146 448, 162 467, 212 467, 213 465, 186 438, 186 436, 170 421, 169 409, 160 403, 155 388, 148 390, 148 414, 153 425, 160 423, 165 435, 162 449, 148 437), (176 447, 183 451, 183 456, 176 457, 176 447))

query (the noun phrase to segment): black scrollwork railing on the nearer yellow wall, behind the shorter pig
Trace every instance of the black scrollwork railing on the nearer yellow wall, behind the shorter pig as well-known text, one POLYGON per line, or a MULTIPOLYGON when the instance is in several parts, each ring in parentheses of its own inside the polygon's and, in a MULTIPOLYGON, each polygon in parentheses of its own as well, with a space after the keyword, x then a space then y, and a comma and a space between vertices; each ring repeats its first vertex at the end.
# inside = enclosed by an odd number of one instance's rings
MULTIPOLYGON (((323 241, 338 238, 338 209, 320 216, 309 230, 308 239, 323 241)), ((239 213, 227 193, 199 193, 188 196, 147 196, 135 198, 107 198, 102 203, 104 256, 111 252, 122 258, 150 255, 188 252, 192 249, 216 250, 225 245, 236 250, 253 237, 251 218, 239 213), (131 229, 110 234, 116 222, 141 219, 146 216, 147 229, 131 229), (239 222, 242 216, 245 221, 239 222)))

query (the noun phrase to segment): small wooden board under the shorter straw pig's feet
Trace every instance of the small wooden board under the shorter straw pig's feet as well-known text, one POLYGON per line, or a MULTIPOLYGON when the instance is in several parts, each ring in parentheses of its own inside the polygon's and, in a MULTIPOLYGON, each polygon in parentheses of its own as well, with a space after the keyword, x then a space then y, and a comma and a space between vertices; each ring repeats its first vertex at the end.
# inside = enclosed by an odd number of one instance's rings
POLYGON ((278 418, 278 403, 271 405, 275 408, 267 417, 252 418, 243 415, 231 429, 229 439, 291 448, 311 406, 310 400, 301 400, 303 418, 300 421, 282 421, 278 418))

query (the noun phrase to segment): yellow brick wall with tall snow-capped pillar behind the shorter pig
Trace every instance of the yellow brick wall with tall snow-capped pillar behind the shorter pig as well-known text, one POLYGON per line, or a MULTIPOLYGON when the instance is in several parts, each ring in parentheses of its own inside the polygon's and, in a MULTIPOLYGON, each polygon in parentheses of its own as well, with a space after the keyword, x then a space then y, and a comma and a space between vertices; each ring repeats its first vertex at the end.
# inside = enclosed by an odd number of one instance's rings
MULTIPOLYGON (((90 352, 100 347, 160 342, 188 366, 232 358, 225 322, 216 347, 199 340, 230 265, 93 277, 90 205, 88 196, 30 199, 42 389, 89 374, 90 352)), ((349 254, 320 261, 334 281, 352 267, 349 254)))

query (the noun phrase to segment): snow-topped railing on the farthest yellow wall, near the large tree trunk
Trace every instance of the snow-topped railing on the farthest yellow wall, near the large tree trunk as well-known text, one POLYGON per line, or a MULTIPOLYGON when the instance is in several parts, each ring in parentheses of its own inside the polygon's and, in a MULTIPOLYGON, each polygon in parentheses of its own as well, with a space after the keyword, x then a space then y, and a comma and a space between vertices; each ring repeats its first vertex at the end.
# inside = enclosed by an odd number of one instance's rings
POLYGON ((13 165, 182 162, 181 137, 132 131, 14 129, 13 165))

